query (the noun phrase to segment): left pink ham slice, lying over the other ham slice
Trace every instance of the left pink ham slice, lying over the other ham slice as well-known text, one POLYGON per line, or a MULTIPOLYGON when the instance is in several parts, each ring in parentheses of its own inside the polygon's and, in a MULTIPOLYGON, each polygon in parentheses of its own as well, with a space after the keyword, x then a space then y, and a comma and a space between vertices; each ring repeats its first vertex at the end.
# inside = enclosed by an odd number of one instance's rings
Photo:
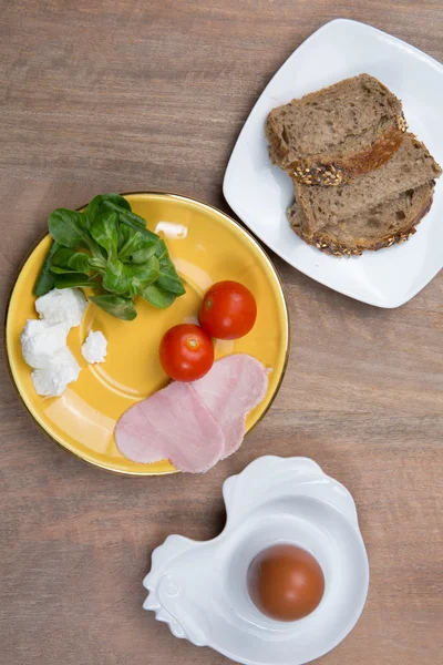
POLYGON ((134 462, 169 459, 176 469, 202 473, 224 453, 225 437, 190 383, 169 383, 131 407, 119 420, 115 441, 134 462))

